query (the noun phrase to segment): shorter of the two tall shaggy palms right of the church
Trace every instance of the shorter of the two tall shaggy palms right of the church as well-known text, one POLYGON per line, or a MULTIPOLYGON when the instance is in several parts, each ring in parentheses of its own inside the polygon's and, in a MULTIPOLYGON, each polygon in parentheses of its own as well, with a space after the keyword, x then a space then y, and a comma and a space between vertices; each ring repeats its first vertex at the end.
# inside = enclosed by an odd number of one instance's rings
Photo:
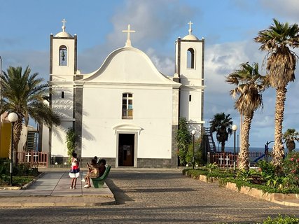
POLYGON ((241 130, 241 147, 239 153, 239 169, 249 170, 249 131, 253 113, 259 107, 263 107, 261 92, 267 87, 265 76, 258 73, 258 63, 249 65, 249 62, 241 64, 240 69, 230 73, 226 77, 226 82, 237 85, 230 90, 230 95, 237 98, 235 109, 244 116, 241 130))

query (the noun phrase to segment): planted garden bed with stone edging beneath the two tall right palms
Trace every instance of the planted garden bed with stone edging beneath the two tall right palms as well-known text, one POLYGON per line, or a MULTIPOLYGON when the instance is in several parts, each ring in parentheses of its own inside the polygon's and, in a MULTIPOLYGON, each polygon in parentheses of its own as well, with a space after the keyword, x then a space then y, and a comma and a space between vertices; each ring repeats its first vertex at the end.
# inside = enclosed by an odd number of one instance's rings
POLYGON ((247 186, 267 193, 299 193, 299 153, 289 153, 281 164, 275 167, 271 162, 261 160, 257 168, 236 170, 219 168, 216 164, 208 164, 196 169, 183 169, 183 174, 195 179, 200 175, 216 178, 220 185, 235 183, 237 188, 247 186))

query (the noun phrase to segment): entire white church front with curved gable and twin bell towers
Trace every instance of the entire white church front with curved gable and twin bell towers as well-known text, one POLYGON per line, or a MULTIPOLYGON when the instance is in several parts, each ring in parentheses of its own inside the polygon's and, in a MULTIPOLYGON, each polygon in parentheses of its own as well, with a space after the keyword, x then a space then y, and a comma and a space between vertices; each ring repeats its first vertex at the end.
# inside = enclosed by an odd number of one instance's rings
POLYGON ((50 106, 61 125, 42 128, 42 151, 67 161, 66 133, 78 134, 83 162, 95 155, 112 167, 177 167, 179 117, 197 136, 203 126, 204 39, 189 34, 176 40, 175 71, 165 76, 134 48, 130 25, 123 48, 111 52, 91 73, 77 68, 77 36, 50 35, 50 106))

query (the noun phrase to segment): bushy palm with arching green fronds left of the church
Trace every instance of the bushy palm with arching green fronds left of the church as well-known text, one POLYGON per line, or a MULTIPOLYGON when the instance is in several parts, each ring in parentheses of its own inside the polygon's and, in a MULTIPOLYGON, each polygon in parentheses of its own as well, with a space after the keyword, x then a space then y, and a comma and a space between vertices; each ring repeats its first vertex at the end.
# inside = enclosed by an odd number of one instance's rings
MULTIPOLYGON (((2 85, 2 110, 15 112, 18 114, 18 120, 13 127, 13 150, 17 151, 22 131, 22 123, 27 126, 29 117, 37 123, 44 123, 48 127, 51 125, 60 125, 60 118, 50 109, 50 106, 44 104, 48 99, 48 84, 43 83, 43 78, 37 78, 39 73, 30 74, 29 66, 22 70, 21 66, 10 66, 7 73, 4 72, 2 85)), ((16 158, 15 158, 16 159, 16 158)))

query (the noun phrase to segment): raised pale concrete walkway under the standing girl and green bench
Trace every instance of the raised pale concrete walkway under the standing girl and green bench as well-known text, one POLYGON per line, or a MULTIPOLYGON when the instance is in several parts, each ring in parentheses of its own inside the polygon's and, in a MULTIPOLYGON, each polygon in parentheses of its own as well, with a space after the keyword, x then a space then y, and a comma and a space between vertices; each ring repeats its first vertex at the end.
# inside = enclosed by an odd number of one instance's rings
POLYGON ((104 188, 84 188, 81 172, 76 189, 70 189, 69 170, 46 170, 26 189, 1 190, 0 207, 92 207, 115 204, 113 193, 104 188))

